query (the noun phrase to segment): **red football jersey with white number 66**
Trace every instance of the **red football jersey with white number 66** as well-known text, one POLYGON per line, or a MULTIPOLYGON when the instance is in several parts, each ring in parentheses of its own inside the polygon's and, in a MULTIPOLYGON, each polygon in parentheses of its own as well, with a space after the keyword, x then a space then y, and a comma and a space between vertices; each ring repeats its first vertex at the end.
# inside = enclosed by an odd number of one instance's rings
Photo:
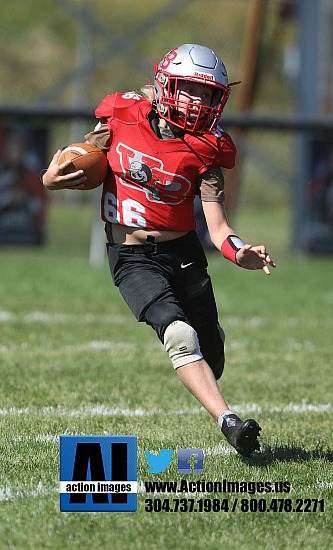
POLYGON ((212 166, 232 168, 236 148, 220 130, 162 140, 151 129, 151 109, 135 92, 109 95, 96 109, 97 118, 107 119, 111 138, 102 218, 128 227, 190 231, 198 176, 212 166))

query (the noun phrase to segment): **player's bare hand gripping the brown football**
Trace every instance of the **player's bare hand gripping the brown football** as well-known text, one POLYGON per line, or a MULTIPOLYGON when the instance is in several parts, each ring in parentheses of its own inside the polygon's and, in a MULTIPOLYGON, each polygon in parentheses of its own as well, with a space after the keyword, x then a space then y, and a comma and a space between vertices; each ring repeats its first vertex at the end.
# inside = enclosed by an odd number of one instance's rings
POLYGON ((80 189, 80 185, 87 181, 83 170, 64 174, 64 170, 71 164, 71 161, 66 160, 58 165, 60 155, 61 150, 59 149, 53 156, 47 171, 43 175, 43 185, 51 191, 56 189, 80 189))

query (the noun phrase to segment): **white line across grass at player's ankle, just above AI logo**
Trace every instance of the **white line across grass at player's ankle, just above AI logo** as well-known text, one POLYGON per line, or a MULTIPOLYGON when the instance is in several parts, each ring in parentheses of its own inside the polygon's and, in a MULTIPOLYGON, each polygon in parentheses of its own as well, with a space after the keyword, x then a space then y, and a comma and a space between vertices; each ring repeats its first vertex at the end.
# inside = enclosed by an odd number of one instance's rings
MULTIPOLYGON (((233 411, 239 414, 249 414, 249 413, 331 413, 333 412, 332 403, 288 403, 284 406, 277 406, 271 404, 259 405, 257 403, 244 403, 240 405, 233 405, 230 407, 233 411)), ((48 416, 48 415, 59 415, 59 416, 154 416, 158 414, 168 415, 168 416, 179 416, 184 414, 199 414, 204 412, 203 407, 188 407, 175 410, 163 409, 123 409, 120 407, 106 407, 105 405, 94 405, 94 406, 85 406, 78 409, 70 409, 66 407, 42 407, 40 409, 33 407, 26 408, 17 408, 17 407, 8 407, 0 409, 0 416, 22 416, 22 415, 36 415, 36 416, 48 416)))

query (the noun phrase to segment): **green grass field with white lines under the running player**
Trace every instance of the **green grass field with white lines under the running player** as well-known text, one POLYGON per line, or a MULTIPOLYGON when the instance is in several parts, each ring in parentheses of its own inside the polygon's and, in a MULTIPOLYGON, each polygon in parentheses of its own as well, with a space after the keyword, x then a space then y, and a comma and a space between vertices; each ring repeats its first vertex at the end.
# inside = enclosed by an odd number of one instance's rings
POLYGON ((263 428, 262 451, 243 460, 183 389, 153 332, 132 319, 106 263, 89 265, 90 219, 84 205, 52 208, 45 247, 0 249, 0 549, 330 547, 332 258, 292 253, 281 211, 247 211, 237 222, 244 238, 268 244, 278 263, 271 277, 209 258, 227 333, 221 386, 263 428), (61 513, 64 433, 137 435, 140 482, 288 481, 291 492, 278 497, 324 499, 325 509, 148 513, 141 489, 136 513, 61 513), (174 459, 146 473, 145 450, 185 447, 203 449, 202 475, 181 476, 174 459))

